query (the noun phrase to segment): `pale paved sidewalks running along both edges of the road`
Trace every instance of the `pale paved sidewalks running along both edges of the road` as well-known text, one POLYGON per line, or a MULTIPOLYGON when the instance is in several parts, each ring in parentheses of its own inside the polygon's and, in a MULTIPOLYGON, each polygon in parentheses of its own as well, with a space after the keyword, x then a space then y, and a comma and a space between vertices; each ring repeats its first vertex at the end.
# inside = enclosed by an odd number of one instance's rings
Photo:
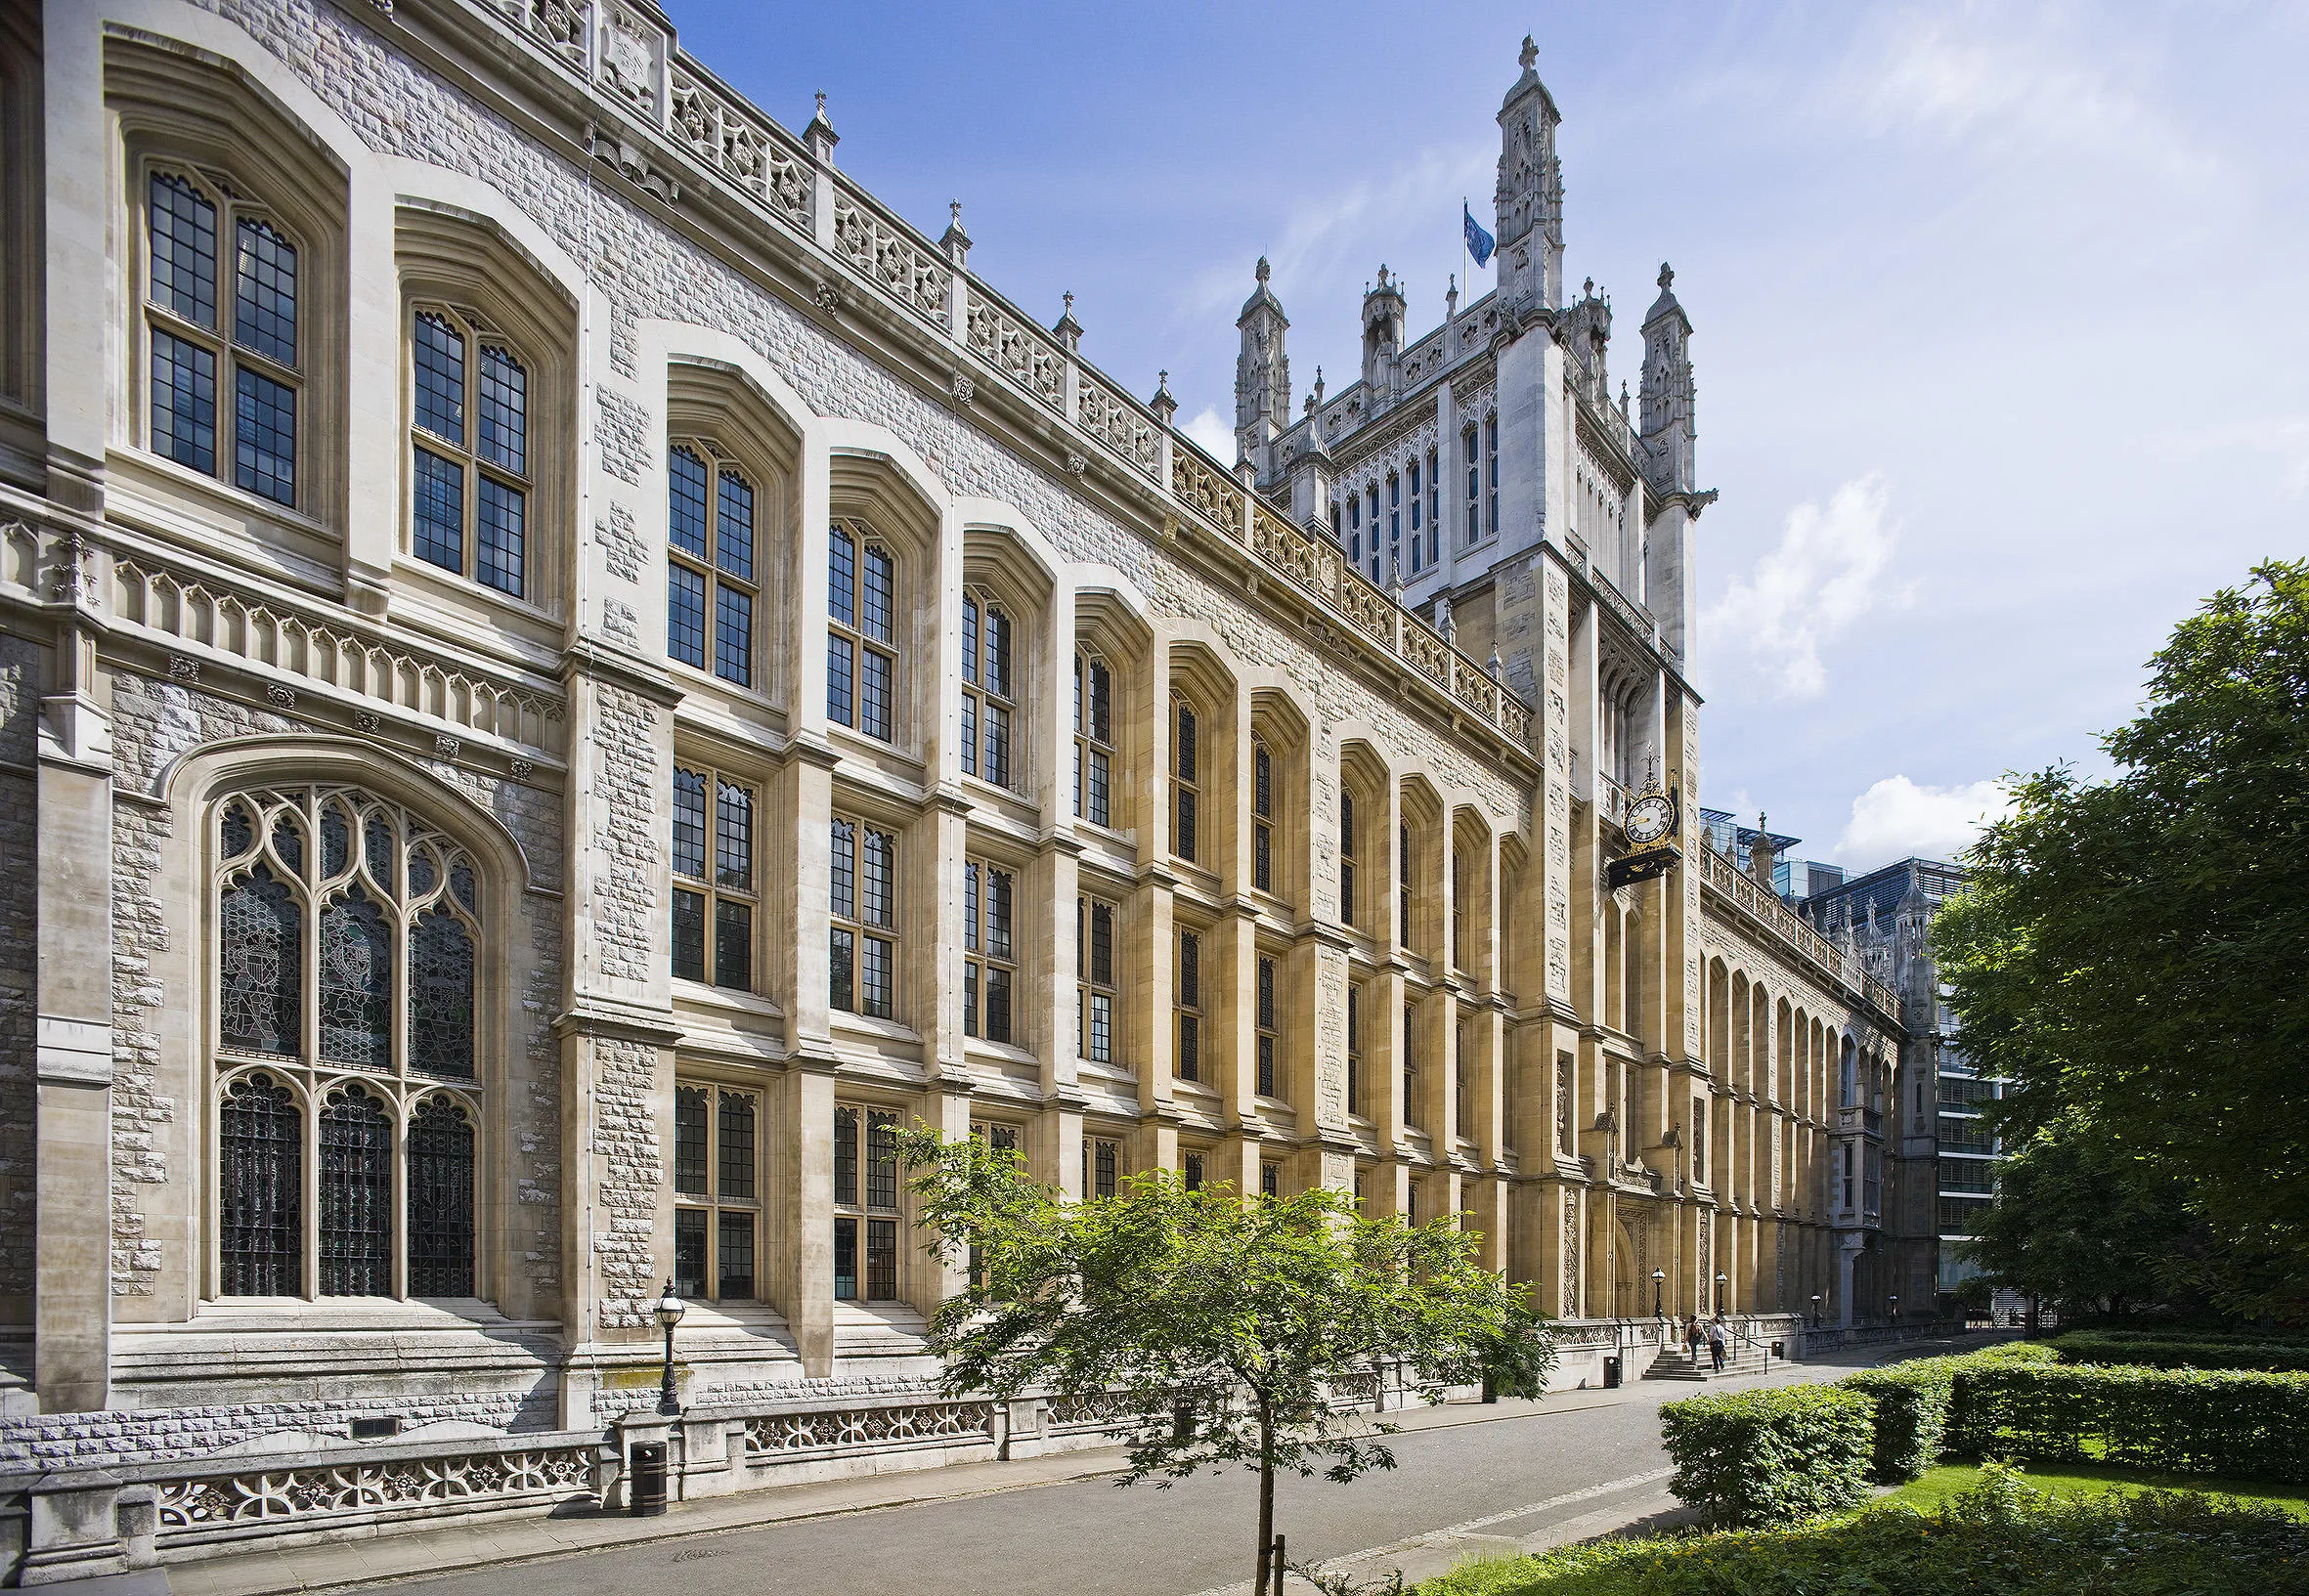
MULTIPOLYGON (((1866 1349, 1822 1358, 1817 1363, 1783 1363, 1769 1374, 1727 1377, 1711 1381, 1720 1388, 1755 1388, 1801 1384, 1810 1379, 1833 1379, 1852 1367, 1877 1363, 1880 1351, 1903 1356, 1946 1351, 1930 1342, 1905 1344, 1900 1349, 1866 1349)), ((1695 1395, 1681 1381, 1632 1381, 1614 1390, 1559 1390, 1535 1402, 1501 1400, 1489 1404, 1452 1402, 1443 1407, 1404 1409, 1385 1414, 1397 1430, 1448 1430, 1459 1425, 1503 1423, 1512 1418, 1545 1418, 1552 1414, 1575 1414, 1598 1407, 1628 1407, 1674 1402, 1695 1395)), ((709 1536, 725 1529, 760 1529, 843 1513, 873 1513, 903 1508, 924 1501, 961 1501, 970 1497, 993 1497, 1014 1490, 1034 1490, 1064 1481, 1099 1478, 1124 1469, 1122 1448, 1104 1446, 1053 1457, 1025 1457, 1018 1462, 965 1462, 937 1469, 864 1476, 854 1481, 829 1481, 817 1485, 778 1485, 769 1490, 741 1492, 734 1497, 707 1497, 700 1501, 677 1501, 663 1517, 628 1517, 623 1513, 570 1513, 566 1517, 524 1517, 499 1524, 459 1524, 448 1529, 372 1536, 365 1541, 339 1541, 326 1545, 242 1552, 210 1557, 189 1564, 171 1564, 164 1571, 139 1575, 139 1596, 309 1596, 319 1591, 342 1591, 363 1584, 441 1575, 450 1571, 510 1566, 575 1557, 605 1547, 644 1545, 653 1541, 679 1541, 709 1536), (164 1573, 166 1584, 152 1575, 164 1573)), ((1351 1568, 1360 1578, 1383 1578, 1388 1568, 1402 1566, 1406 1578, 1441 1573, 1462 1557, 1475 1554, 1524 1554, 1542 1545, 1591 1538, 1658 1520, 1674 1513, 1676 1504, 1665 1490, 1667 1469, 1591 1485, 1556 1501, 1531 1504, 1510 1515, 1487 1522, 1450 1524, 1427 1531, 1404 1543, 1372 1547, 1332 1566, 1351 1568), (1596 1501, 1593 1508, 1554 1517, 1563 1508, 1596 1501), (1545 1517, 1545 1524, 1522 1520, 1545 1517)), ((88 1596, 99 1589, 83 1584, 88 1596)))

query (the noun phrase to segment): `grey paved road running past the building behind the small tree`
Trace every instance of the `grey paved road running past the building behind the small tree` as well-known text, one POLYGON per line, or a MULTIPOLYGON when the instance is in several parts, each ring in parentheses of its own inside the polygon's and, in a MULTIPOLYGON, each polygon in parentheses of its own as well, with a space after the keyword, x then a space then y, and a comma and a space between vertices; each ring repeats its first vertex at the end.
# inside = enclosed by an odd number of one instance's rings
MULTIPOLYGON (((1575 1393, 1480 1423, 1408 1430, 1392 1437, 1392 1471, 1353 1485, 1279 1483, 1277 1527, 1291 1538, 1293 1561, 1302 1561, 1443 1527, 1529 1536, 1598 1508, 1642 1504, 1660 1492, 1658 1476, 1667 1467, 1658 1402, 1692 1390, 1662 1381, 1593 1407, 1572 1407, 1584 1395, 1575 1393), (1596 1492, 1600 1485, 1616 1490, 1596 1492)), ((1069 1481, 725 1529, 393 1589, 423 1596, 1189 1596, 1240 1582, 1254 1538, 1254 1476, 1242 1471, 1168 1490, 1069 1481)))

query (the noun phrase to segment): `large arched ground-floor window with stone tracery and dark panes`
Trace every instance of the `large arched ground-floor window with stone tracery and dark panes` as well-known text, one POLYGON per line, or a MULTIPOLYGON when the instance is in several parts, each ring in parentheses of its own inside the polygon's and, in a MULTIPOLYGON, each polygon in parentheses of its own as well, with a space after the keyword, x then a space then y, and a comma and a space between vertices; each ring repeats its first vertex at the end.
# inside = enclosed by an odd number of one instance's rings
POLYGON ((434 1086, 478 1074, 471 857, 358 788, 212 825, 215 1291, 476 1296, 478 1123, 434 1086))

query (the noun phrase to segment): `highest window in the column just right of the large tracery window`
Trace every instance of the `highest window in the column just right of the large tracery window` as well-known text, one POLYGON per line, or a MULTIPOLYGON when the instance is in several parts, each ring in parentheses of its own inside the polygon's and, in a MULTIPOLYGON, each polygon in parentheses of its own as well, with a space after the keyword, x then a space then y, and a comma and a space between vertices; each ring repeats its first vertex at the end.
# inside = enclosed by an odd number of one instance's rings
POLYGON ((677 443, 665 464, 665 654, 753 686, 753 483, 713 443, 677 443))

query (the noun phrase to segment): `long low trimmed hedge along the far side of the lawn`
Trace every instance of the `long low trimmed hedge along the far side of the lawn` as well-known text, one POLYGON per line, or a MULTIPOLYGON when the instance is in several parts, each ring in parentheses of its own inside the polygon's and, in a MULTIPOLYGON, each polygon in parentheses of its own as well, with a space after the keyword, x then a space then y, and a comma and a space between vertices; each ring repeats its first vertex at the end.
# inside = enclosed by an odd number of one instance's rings
POLYGON ((1956 1370, 1946 1448, 2309 1483, 2309 1374, 1972 1363, 1956 1370))

